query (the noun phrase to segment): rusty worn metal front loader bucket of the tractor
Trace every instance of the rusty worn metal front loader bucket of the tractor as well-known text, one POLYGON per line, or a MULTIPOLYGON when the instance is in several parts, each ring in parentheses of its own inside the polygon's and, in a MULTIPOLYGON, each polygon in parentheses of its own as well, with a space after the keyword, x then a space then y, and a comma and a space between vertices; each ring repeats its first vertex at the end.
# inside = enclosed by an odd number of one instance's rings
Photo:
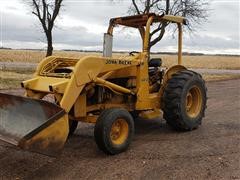
POLYGON ((50 102, 0 93, 0 139, 55 156, 68 136, 68 116, 50 102))

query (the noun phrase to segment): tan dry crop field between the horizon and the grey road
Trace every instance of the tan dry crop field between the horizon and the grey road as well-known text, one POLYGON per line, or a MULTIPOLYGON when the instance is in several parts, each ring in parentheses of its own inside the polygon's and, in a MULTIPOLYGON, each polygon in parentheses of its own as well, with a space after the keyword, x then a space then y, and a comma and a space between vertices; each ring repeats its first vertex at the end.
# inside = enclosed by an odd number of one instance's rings
MULTIPOLYGON (((69 51, 54 51, 56 56, 81 58, 86 55, 101 56, 101 53, 84 53, 69 51)), ((126 55, 115 53, 116 56, 126 55)), ((38 63, 45 56, 44 51, 29 50, 0 50, 0 61, 2 62, 28 62, 38 63)), ((170 67, 177 63, 176 55, 153 55, 161 57, 163 65, 170 67)), ((184 56, 183 64, 189 68, 207 69, 240 69, 240 57, 238 56, 184 56)))

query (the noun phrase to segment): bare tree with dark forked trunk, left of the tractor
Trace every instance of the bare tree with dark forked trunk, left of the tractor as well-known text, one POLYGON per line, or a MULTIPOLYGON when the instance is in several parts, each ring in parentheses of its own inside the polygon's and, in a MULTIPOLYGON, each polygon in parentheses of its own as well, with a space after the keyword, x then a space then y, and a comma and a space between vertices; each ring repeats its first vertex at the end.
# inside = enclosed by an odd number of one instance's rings
POLYGON ((61 9, 62 1, 63 0, 31 0, 32 13, 39 19, 47 38, 46 56, 51 56, 53 52, 52 29, 61 9))

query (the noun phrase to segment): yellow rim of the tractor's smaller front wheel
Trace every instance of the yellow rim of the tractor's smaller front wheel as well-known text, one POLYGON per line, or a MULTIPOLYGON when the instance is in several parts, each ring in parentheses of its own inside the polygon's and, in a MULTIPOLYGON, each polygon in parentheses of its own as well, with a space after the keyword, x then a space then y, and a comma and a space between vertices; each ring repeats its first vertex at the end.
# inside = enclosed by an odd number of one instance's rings
POLYGON ((125 119, 117 119, 111 128, 111 141, 113 144, 121 145, 123 144, 128 138, 128 123, 125 119))

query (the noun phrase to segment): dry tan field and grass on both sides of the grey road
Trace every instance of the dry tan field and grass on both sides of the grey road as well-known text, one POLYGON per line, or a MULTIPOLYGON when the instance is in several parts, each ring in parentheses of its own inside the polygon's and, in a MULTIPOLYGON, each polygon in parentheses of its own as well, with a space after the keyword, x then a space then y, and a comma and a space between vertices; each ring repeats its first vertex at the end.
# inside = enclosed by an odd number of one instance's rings
MULTIPOLYGON (((75 51, 54 51, 55 56, 81 58, 86 55, 101 56, 101 53, 75 52, 75 51)), ((127 53, 114 53, 115 56, 126 56, 127 53)), ((0 62, 21 62, 39 63, 45 56, 44 51, 37 50, 0 50, 0 62)), ((152 55, 151 57, 161 57, 163 66, 171 67, 177 64, 177 55, 152 55)), ((188 68, 204 69, 240 69, 239 56, 184 56, 183 65, 188 68)), ((0 89, 18 88, 20 82, 32 77, 31 71, 1 71, 0 89)), ((229 74, 203 74, 207 81, 240 78, 240 75, 229 74)))

